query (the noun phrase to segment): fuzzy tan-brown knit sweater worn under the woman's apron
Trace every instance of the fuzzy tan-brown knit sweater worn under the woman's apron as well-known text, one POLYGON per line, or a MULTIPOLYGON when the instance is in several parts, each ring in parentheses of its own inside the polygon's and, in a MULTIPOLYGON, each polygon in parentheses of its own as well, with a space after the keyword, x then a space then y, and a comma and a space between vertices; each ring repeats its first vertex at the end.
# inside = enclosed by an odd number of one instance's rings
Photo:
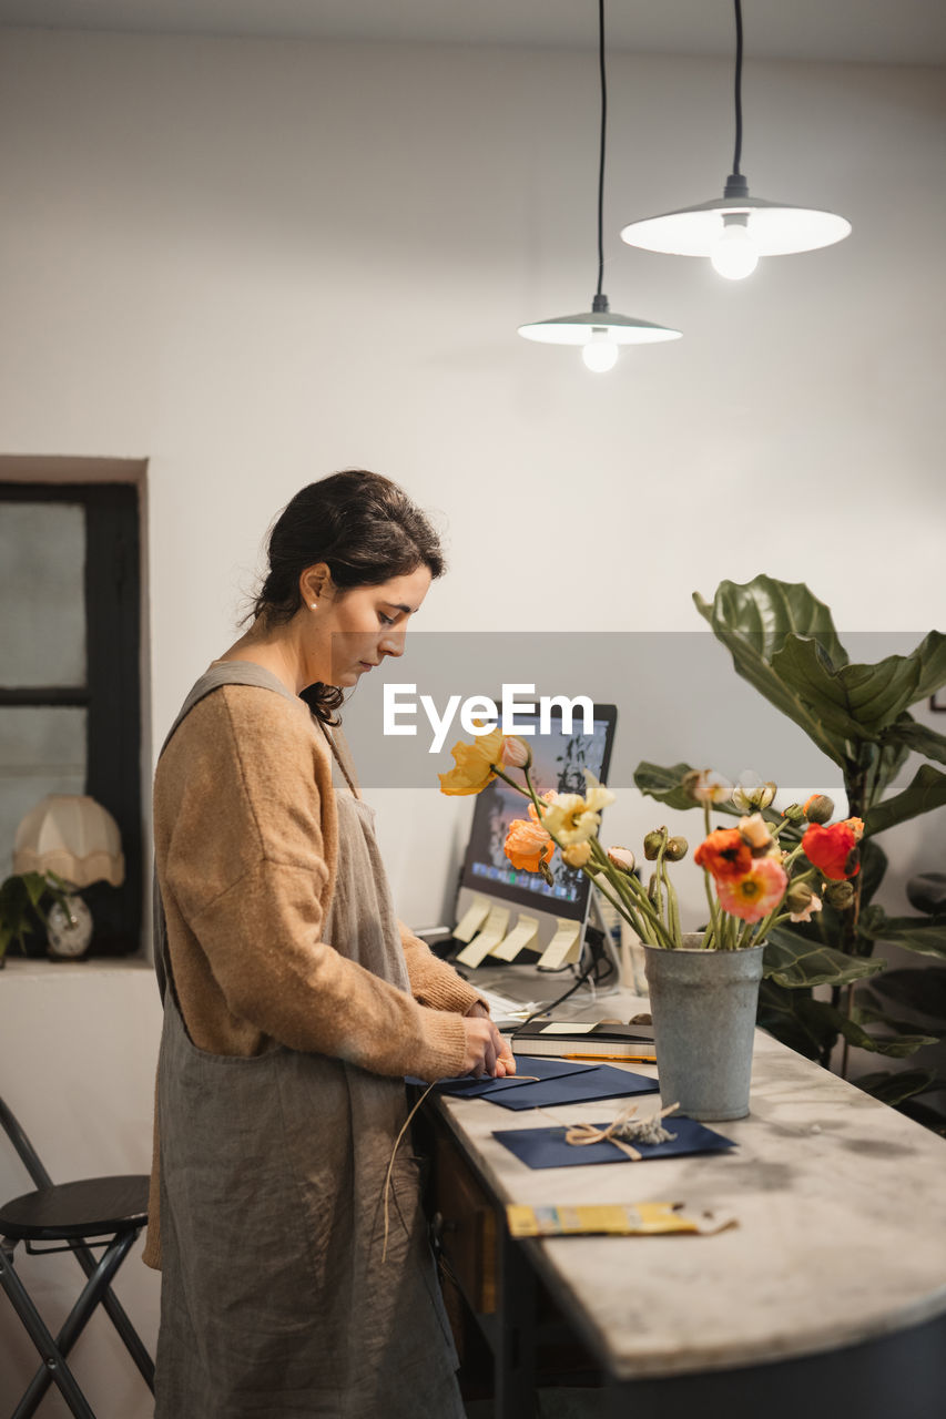
MULTIPOLYGON (((155 776, 158 881, 187 1033, 214 1054, 277 1042, 376 1074, 456 1074, 460 1016, 479 996, 405 927, 412 995, 322 941, 337 857, 331 756, 303 701, 251 685, 206 695, 155 776)), ((145 1261, 159 1266, 156 1124, 145 1261)))

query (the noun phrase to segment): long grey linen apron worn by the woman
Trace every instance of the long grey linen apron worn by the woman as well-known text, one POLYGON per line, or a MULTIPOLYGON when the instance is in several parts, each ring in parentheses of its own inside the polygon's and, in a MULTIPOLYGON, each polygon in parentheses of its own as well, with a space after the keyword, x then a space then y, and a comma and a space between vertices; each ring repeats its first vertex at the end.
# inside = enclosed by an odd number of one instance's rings
MULTIPOLYGON (((261 667, 219 663, 168 739, 224 684, 294 700, 261 667)), ((406 990, 374 810, 338 780, 335 797, 338 873, 324 939, 406 990)), ((176 1003, 158 893, 155 902, 165 999, 156 1419, 463 1419, 408 1138, 381 1259, 403 1083, 280 1044, 250 1059, 197 1049, 176 1003)))

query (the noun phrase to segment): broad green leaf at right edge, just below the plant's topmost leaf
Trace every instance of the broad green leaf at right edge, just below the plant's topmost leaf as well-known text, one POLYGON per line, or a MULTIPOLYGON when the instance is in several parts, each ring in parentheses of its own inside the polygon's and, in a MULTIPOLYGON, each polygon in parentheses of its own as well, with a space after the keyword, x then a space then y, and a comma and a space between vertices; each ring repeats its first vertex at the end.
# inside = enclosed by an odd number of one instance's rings
POLYGON ((874 666, 835 667, 818 640, 787 636, 771 657, 771 668, 787 681, 828 729, 848 739, 876 739, 908 705, 929 691, 933 667, 946 650, 930 631, 909 656, 888 656, 874 666))

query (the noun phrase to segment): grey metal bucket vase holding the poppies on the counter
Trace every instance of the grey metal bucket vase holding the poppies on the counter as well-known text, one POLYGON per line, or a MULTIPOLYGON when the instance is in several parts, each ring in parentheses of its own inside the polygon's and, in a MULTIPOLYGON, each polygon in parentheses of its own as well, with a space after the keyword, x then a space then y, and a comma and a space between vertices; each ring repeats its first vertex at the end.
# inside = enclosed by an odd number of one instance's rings
POLYGON ((744 1118, 766 948, 703 951, 697 941, 645 946, 660 1098, 689 1118, 744 1118))

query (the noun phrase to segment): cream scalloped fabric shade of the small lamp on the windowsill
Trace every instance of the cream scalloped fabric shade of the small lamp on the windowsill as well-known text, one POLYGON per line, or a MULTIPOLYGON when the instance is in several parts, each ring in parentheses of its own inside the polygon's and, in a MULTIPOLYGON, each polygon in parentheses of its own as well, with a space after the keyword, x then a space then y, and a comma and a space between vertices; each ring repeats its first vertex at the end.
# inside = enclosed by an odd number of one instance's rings
POLYGON ((50 793, 17 827, 14 873, 58 873, 74 887, 121 887, 125 858, 118 823, 81 793, 50 793))

